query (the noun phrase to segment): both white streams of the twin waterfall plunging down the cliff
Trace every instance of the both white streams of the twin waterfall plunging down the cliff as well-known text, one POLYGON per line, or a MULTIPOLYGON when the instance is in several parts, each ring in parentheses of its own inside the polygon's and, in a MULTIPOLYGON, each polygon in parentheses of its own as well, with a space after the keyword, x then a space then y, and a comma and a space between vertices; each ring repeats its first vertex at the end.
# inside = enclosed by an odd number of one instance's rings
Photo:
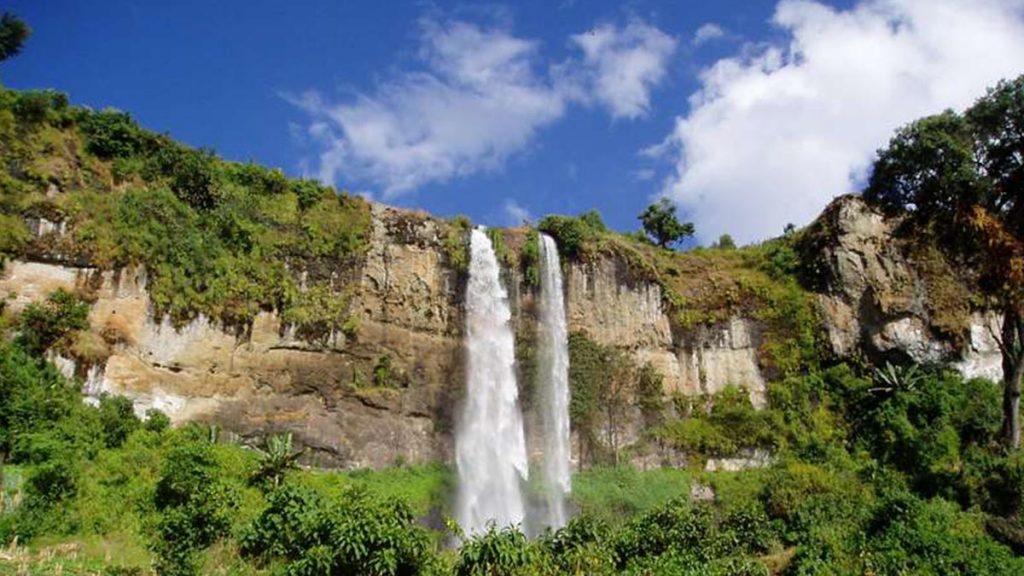
MULTIPOLYGON (((470 237, 466 289, 466 398, 456 430, 457 519, 467 536, 523 525, 528 478, 526 442, 515 373, 515 336, 508 293, 490 240, 470 237)), ((567 520, 569 470, 568 340, 561 266, 555 241, 541 236, 538 324, 537 443, 541 498, 529 524, 558 529, 567 520), (536 518, 535 518, 536 517, 536 518)))

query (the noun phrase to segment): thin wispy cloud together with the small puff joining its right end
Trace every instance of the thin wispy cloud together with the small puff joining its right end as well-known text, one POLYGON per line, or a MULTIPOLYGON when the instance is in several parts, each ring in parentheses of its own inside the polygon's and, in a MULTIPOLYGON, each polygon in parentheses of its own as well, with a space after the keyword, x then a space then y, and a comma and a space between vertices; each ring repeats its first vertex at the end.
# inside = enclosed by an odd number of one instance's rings
POLYGON ((305 165, 322 180, 370 183, 388 200, 501 169, 591 94, 615 117, 645 114, 675 50, 675 40, 639 20, 572 37, 583 54, 557 66, 507 27, 427 19, 421 31, 420 70, 341 101, 315 91, 286 96, 310 116, 303 139, 319 153, 305 165))

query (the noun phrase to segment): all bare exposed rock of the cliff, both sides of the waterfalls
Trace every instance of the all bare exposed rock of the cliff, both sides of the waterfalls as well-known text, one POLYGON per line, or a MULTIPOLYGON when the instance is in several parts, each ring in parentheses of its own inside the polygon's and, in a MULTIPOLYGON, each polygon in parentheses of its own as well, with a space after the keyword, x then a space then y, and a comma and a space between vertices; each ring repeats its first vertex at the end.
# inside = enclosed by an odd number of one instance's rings
MULTIPOLYGON (((450 460, 464 387, 465 278, 449 262, 440 222, 383 205, 372 214, 350 310, 357 327, 315 343, 296 337, 273 313, 260 314, 244 333, 202 317, 173 327, 154 318, 138 270, 9 261, 0 295, 10 294, 15 310, 56 288, 89 295, 92 330, 108 342, 109 357, 88 365, 56 360, 88 394, 124 394, 140 413, 159 408, 175 421, 216 422, 251 440, 291 431, 322 465, 450 460), (389 381, 380 385, 374 372, 385 361, 389 381)), ((37 233, 61 234, 50 224, 37 233)), ((955 285, 936 284, 937 264, 901 246, 892 223, 858 198, 837 200, 807 236, 803 259, 816 264, 816 297, 837 357, 943 361, 970 376, 1001 376, 998 316, 964 305, 955 285), (948 311, 937 302, 954 314, 940 314, 948 311)), ((522 331, 531 326, 536 295, 509 272, 522 331)), ((613 256, 568 263, 565 289, 569 330, 625 349, 638 364, 650 362, 667 398, 734 384, 755 405, 765 403, 755 319, 674 327, 660 288, 632 279, 613 256)), ((627 422, 621 445, 639 433, 638 422, 627 422)))

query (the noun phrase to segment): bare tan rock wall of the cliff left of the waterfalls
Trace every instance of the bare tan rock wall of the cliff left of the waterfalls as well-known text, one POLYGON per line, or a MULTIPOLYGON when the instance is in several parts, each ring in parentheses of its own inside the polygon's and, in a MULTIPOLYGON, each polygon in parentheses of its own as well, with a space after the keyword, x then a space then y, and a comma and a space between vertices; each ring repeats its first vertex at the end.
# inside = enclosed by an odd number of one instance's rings
POLYGON ((92 330, 110 342, 96 365, 63 362, 86 393, 123 394, 136 411, 216 422, 243 438, 292 431, 313 463, 341 466, 447 457, 453 396, 461 389, 461 294, 436 222, 374 209, 351 337, 297 338, 273 313, 236 334, 200 317, 173 327, 153 316, 143 271, 100 272, 9 261, 0 294, 18 310, 57 288, 93 302, 92 330), (387 358, 386 385, 374 369, 387 358))

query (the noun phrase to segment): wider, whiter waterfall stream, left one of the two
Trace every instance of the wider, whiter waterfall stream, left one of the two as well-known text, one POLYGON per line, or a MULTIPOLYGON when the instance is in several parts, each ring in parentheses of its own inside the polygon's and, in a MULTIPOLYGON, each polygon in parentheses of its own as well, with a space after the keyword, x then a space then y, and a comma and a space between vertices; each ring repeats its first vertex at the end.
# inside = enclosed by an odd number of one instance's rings
POLYGON ((522 524, 526 442, 515 378, 508 293, 487 235, 470 237, 466 289, 466 399, 456 429, 457 515, 467 535, 522 524))

